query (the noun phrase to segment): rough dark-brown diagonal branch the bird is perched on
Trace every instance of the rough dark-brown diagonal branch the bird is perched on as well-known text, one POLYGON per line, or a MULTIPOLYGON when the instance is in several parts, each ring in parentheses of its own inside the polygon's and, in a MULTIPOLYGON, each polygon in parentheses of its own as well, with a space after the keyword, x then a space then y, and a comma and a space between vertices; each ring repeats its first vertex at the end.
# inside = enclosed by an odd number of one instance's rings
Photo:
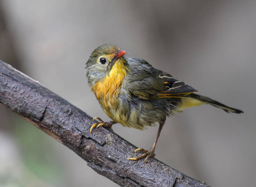
POLYGON ((89 133, 92 117, 0 60, 0 103, 66 145, 121 186, 207 186, 149 158, 130 161, 135 146, 106 128, 89 133))

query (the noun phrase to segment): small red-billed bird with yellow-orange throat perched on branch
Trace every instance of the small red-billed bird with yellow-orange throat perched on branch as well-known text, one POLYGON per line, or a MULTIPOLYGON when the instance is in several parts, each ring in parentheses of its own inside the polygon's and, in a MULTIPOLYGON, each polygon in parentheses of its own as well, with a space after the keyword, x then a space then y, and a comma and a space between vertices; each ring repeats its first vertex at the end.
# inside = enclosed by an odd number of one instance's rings
POLYGON ((115 44, 97 47, 86 62, 86 69, 91 91, 111 118, 110 122, 104 122, 100 117, 93 118, 97 122, 92 125, 90 133, 95 127, 111 128, 116 123, 139 130, 159 123, 152 148, 137 148, 135 152, 142 151, 142 155, 129 160, 154 157, 166 118, 182 112, 184 108, 209 104, 228 113, 244 113, 198 95, 193 87, 155 69, 146 60, 127 57, 126 51, 115 44))

